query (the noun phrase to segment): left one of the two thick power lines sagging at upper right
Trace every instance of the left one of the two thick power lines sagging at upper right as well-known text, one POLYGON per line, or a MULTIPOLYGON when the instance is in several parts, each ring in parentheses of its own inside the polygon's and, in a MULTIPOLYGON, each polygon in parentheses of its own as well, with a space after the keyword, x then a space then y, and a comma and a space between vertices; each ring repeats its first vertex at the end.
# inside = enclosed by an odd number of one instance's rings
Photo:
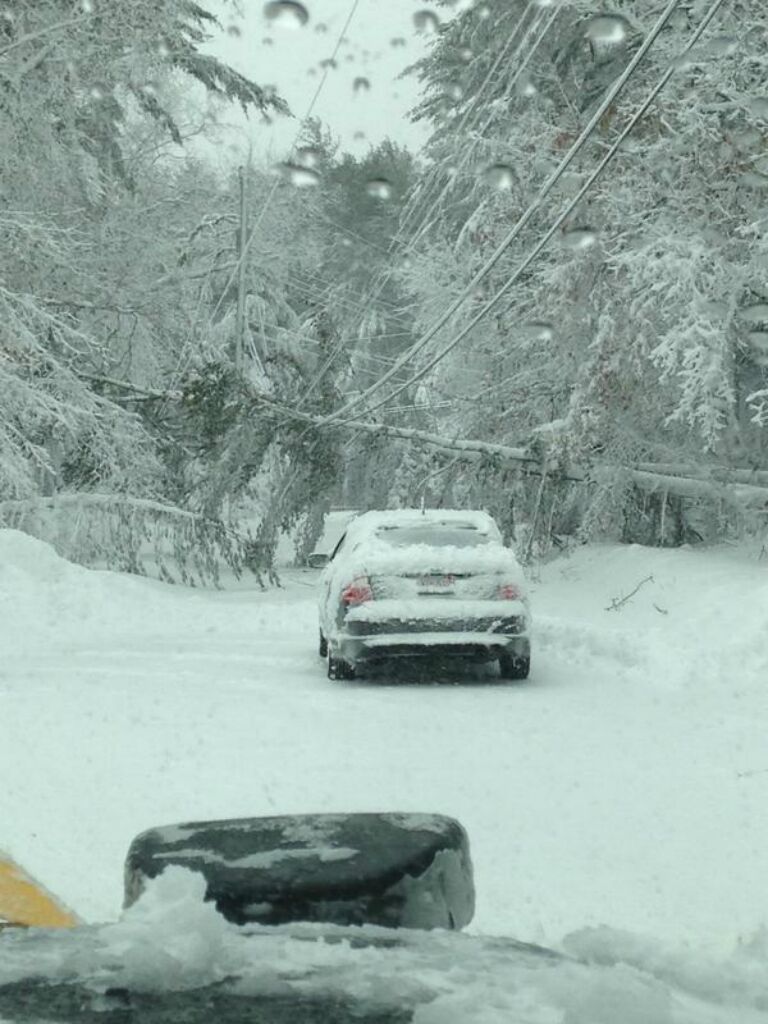
MULTIPOLYGON (((722 2, 722 0, 720 0, 720 2, 722 2)), ((466 288, 461 292, 461 294, 449 305, 449 307, 445 309, 445 311, 443 313, 441 313, 437 317, 437 319, 432 325, 432 327, 430 327, 426 331, 426 333, 423 334, 421 336, 421 338, 419 338, 411 346, 411 348, 400 356, 400 359, 398 360, 398 364, 395 365, 395 367, 393 367, 390 371, 387 371, 387 373, 384 374, 379 379, 379 381, 377 381, 375 384, 371 385, 370 388, 367 388, 366 391, 364 391, 360 394, 360 396, 354 402, 348 402, 346 406, 343 406, 340 410, 338 410, 335 414, 332 414, 332 416, 328 419, 328 422, 331 422, 332 420, 336 419, 337 417, 344 416, 346 413, 349 412, 350 409, 352 409, 355 406, 359 404, 361 401, 365 401, 372 394, 374 394, 376 391, 380 390, 380 388, 382 388, 391 379, 391 377, 394 375, 394 373, 396 371, 398 371, 399 369, 401 369, 401 367, 404 364, 410 362, 414 358, 414 356, 418 355, 418 353, 421 352, 426 347, 426 345, 429 344, 429 342, 432 340, 432 338, 435 337, 435 335, 438 333, 438 331, 440 331, 441 328, 443 328, 445 326, 445 324, 447 324, 447 322, 462 307, 462 305, 466 302, 466 300, 470 297, 470 295, 472 295, 475 292, 475 289, 477 288, 477 286, 488 275, 488 273, 493 270, 493 268, 497 265, 497 263, 499 262, 499 260, 502 258, 502 256, 504 255, 504 253, 507 252, 507 250, 509 249, 509 247, 517 239, 517 237, 520 234, 520 232, 523 230, 523 228, 527 226, 527 224, 532 219, 534 215, 539 211, 539 209, 540 209, 542 203, 544 202, 544 200, 552 191, 552 189, 554 188, 554 186, 557 184, 557 182, 560 180, 560 178, 562 177, 562 175, 568 169, 568 167, 573 162, 573 160, 575 159, 575 157, 579 155, 579 153, 584 148, 584 146, 586 145, 586 143, 589 141, 592 133, 595 131, 596 127, 598 126, 598 124, 602 120, 603 116, 605 115, 605 112, 611 106, 611 104, 614 102, 616 96, 622 92, 622 90, 624 89, 625 85, 627 84, 627 82, 630 80, 630 78, 634 74, 634 72, 637 69, 637 67, 640 63, 640 61, 643 59, 643 57, 645 56, 645 54, 648 52, 648 50, 650 49, 650 47, 655 42, 656 38, 658 37, 659 33, 662 32, 662 29, 665 27, 665 25, 667 24, 667 22, 669 20, 669 18, 671 17, 671 15, 673 14, 673 12, 675 11, 675 9, 678 7, 679 3, 680 3, 680 0, 669 0, 669 3, 667 4, 667 6, 665 7, 664 11, 662 12, 662 14, 659 15, 659 17, 657 18, 657 20, 656 20, 655 25, 653 26, 653 28, 651 29, 650 33, 643 40, 642 44, 640 45, 640 47, 635 52, 634 56, 632 57, 632 59, 630 60, 630 62, 627 65, 627 67, 625 68, 624 72, 620 75, 620 77, 613 83, 613 85, 608 90, 608 92, 606 93, 606 95, 603 97, 603 100, 598 105, 597 110, 593 114, 592 118, 590 119, 590 121, 588 122, 588 124, 586 125, 586 127, 583 129, 583 131, 580 134, 579 138, 573 142, 573 144, 571 145, 571 147, 568 150, 567 154, 560 161, 560 163, 557 166, 557 168, 552 172, 552 174, 549 176, 549 178, 547 178, 547 180, 541 186, 541 188, 537 193, 536 197, 534 198, 532 202, 528 205, 527 209, 519 217, 519 219, 512 226, 512 228, 507 232, 507 234, 502 240, 502 242, 499 244, 499 246, 497 246, 497 248, 494 251, 494 253, 488 257, 488 259, 482 265, 482 267, 480 267, 480 269, 475 273, 475 275, 472 278, 472 280, 466 286, 466 288)), ((671 74, 671 72, 670 72, 670 74, 671 74)), ((665 81, 667 79, 665 78, 665 81)), ((602 169, 603 166, 605 166, 605 164, 606 164, 606 162, 604 161, 603 164, 600 165, 601 169, 602 169)), ((590 182, 592 180, 593 180, 592 178, 589 179, 590 182)), ((588 189, 586 187, 582 188, 582 190, 579 194, 579 198, 581 199, 581 197, 584 196, 587 190, 588 189)), ((575 204, 572 204, 572 207, 574 207, 574 206, 575 206, 575 204)), ((562 219, 560 219, 559 222, 562 223, 562 220, 564 220, 564 219, 565 218, 563 217, 562 219)), ((551 237, 551 234, 553 234, 553 233, 554 233, 554 230, 551 231, 548 237, 551 237)), ((538 254, 538 251, 539 250, 537 250, 537 254, 538 254)), ((527 263, 525 263, 525 265, 527 265, 527 263)), ((518 271, 518 274, 517 274, 518 276, 519 276, 520 272, 522 272, 522 271, 521 270, 518 271)), ((517 279, 515 278, 515 280, 517 280, 517 279)), ((495 304, 495 302, 494 302, 494 304, 495 304)), ((490 304, 488 304, 485 307, 483 307, 482 315, 484 315, 485 312, 487 312, 487 310, 489 308, 493 308, 493 306, 490 304)), ((477 321, 481 319, 482 315, 476 317, 472 323, 474 324, 477 321)), ((464 337, 464 334, 466 334, 466 332, 464 332, 462 334, 462 337, 464 337)), ((385 401, 386 401, 386 399, 385 399, 385 401)), ((381 404, 383 404, 383 402, 380 402, 379 404, 375 406, 374 408, 378 409, 378 408, 380 408, 381 404)))

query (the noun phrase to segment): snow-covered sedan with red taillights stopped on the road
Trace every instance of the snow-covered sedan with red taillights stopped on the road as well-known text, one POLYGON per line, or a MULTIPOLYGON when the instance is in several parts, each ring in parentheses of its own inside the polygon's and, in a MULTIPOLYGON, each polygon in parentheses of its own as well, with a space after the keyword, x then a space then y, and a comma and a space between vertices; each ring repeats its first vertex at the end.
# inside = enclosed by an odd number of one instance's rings
POLYGON ((331 679, 396 656, 498 660, 530 669, 522 569, 485 512, 366 512, 321 578, 319 654, 331 679))

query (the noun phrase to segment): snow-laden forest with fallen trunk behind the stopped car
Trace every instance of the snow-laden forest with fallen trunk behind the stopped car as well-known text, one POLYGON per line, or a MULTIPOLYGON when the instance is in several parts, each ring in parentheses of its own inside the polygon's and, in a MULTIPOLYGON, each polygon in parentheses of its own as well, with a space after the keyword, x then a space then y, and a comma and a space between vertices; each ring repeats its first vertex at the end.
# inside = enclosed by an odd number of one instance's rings
POLYGON ((760 535, 763 0, 455 7, 424 151, 353 156, 205 0, 0 4, 1 525, 181 583, 333 507, 486 508, 527 561, 760 535), (206 158, 232 104, 284 162, 206 158))

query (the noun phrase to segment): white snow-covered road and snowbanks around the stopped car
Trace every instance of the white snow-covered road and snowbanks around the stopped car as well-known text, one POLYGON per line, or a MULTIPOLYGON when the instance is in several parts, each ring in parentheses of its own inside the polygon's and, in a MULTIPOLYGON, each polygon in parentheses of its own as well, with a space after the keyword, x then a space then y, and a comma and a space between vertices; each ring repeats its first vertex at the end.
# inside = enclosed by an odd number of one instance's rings
POLYGON ((482 669, 453 685, 329 681, 314 580, 183 590, 0 532, 0 848, 109 921, 128 844, 152 825, 434 811, 469 831, 472 932, 556 948, 581 933, 565 946, 707 970, 752 942, 765 970, 757 549, 586 547, 544 566, 522 684, 482 669))

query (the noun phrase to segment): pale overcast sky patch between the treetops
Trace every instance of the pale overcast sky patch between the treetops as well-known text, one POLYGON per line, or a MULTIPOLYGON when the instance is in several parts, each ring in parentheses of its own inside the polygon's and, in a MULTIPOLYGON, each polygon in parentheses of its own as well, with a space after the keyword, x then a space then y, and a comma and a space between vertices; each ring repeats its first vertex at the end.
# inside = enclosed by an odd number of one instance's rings
MULTIPOLYGON (((224 31, 209 49, 259 85, 273 85, 288 101, 295 119, 281 118, 270 127, 253 118, 250 124, 243 121, 238 133, 244 148, 251 141, 256 156, 283 160, 321 82, 321 61, 333 53, 352 0, 306 0, 309 20, 295 29, 267 19, 264 7, 263 0, 242 0, 244 14, 238 17, 230 5, 222 5, 224 31)), ((412 150, 423 144, 424 127, 407 116, 418 101, 418 85, 412 78, 397 79, 428 45, 413 22, 414 13, 423 9, 430 4, 359 0, 338 67, 329 71, 313 110, 343 148, 361 153, 387 136, 412 150), (393 39, 404 40, 404 45, 392 45, 393 39), (367 79, 370 89, 355 90, 356 78, 367 79), (360 132, 365 138, 355 137, 360 132)), ((232 116, 227 114, 227 120, 232 116)))

